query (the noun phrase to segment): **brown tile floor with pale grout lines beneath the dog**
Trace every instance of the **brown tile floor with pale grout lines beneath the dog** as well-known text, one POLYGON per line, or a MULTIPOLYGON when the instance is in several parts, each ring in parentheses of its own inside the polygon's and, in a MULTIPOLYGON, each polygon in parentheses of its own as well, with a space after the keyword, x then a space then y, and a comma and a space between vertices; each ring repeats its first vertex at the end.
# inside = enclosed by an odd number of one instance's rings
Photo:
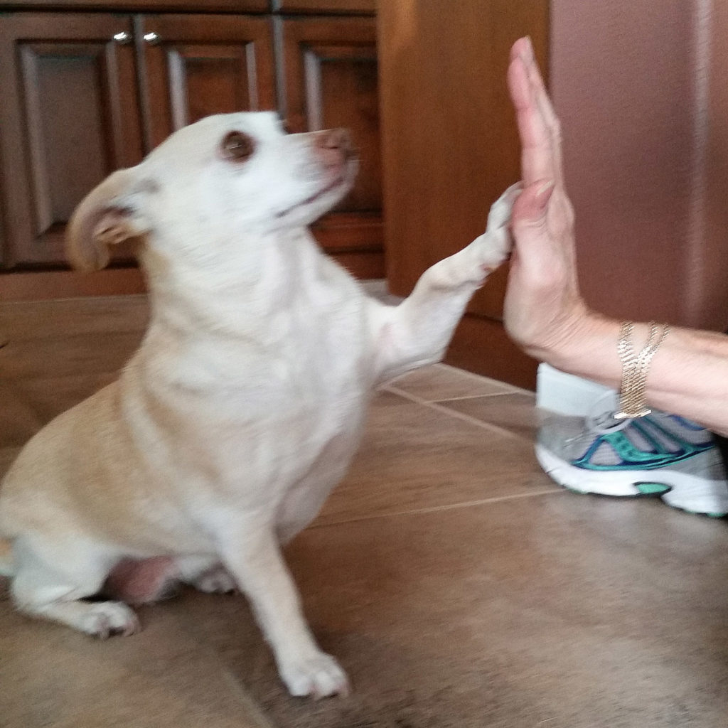
MULTIPOLYGON (((0 473, 145 323, 143 297, 0 306, 0 473)), ((728 524, 555 488, 536 426, 529 392, 444 365, 376 398, 287 553, 352 697, 287 697, 239 596, 185 591, 105 642, 5 599, 0 727, 727 726, 728 524)))

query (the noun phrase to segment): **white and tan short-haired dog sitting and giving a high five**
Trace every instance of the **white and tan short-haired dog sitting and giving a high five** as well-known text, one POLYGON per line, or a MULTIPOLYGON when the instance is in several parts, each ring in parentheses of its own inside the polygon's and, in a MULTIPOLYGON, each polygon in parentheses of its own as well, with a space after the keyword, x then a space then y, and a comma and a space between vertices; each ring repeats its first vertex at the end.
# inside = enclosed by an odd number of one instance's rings
POLYGON ((385 306, 306 229, 356 167, 342 130, 286 135, 272 113, 210 116, 79 205, 71 262, 101 268, 110 245, 138 238, 151 323, 119 379, 44 427, 7 473, 2 569, 18 609, 132 633, 122 601, 82 600, 119 564, 149 560, 163 580, 240 587, 293 695, 346 692, 280 544, 341 480, 376 384, 442 357, 507 256, 517 194, 496 202, 486 234, 385 306))

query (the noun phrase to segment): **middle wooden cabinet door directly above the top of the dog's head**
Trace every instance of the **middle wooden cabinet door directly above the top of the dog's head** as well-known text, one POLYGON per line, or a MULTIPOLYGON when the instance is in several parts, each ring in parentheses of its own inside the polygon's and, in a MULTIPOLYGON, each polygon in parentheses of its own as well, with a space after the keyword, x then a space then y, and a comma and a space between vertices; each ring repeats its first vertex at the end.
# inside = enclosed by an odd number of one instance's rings
POLYGON ((150 149, 203 116, 276 108, 270 20, 146 15, 139 22, 150 149))

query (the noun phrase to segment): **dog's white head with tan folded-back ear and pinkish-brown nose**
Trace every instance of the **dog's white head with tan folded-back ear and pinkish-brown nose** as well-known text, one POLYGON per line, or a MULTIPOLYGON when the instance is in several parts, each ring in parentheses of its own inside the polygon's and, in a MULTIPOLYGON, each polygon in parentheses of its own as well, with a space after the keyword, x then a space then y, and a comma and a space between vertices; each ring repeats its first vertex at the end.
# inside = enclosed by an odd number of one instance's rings
POLYGON ((272 112, 208 116, 82 200, 68 224, 68 259, 103 268, 109 246, 130 238, 214 255, 210 246, 249 233, 309 225, 344 197, 356 172, 344 130, 286 134, 272 112))

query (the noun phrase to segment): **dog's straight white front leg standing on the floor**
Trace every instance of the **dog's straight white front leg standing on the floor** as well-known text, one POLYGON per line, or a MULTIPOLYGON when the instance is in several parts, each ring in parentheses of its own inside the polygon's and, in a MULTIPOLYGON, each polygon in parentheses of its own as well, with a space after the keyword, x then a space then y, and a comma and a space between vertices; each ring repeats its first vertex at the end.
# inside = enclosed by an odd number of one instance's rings
POLYGON ((234 529, 221 556, 248 596, 291 695, 346 695, 346 673, 322 652, 309 630, 298 590, 285 566, 274 529, 248 521, 234 529))

